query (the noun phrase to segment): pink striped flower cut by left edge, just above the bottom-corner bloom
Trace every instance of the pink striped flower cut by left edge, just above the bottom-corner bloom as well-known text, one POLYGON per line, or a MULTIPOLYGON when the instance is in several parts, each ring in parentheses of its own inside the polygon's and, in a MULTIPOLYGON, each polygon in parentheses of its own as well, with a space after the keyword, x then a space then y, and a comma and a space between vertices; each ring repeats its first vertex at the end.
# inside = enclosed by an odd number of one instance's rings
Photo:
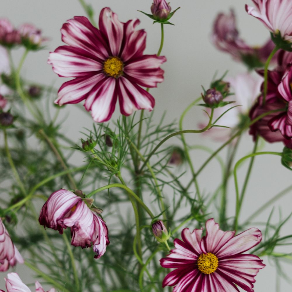
POLYGON ((0 272, 5 272, 16 263, 24 263, 18 249, 13 244, 8 231, 0 218, 0 272))

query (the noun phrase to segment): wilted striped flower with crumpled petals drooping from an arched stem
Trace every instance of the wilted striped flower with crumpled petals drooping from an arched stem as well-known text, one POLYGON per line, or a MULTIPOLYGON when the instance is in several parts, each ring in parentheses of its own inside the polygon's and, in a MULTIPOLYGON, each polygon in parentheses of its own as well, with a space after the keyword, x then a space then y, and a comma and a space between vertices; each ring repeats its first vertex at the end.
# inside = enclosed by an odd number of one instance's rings
POLYGON ((73 192, 61 189, 53 192, 41 208, 39 223, 58 230, 71 228, 73 246, 91 247, 100 258, 109 244, 105 222, 93 212, 84 199, 73 192))

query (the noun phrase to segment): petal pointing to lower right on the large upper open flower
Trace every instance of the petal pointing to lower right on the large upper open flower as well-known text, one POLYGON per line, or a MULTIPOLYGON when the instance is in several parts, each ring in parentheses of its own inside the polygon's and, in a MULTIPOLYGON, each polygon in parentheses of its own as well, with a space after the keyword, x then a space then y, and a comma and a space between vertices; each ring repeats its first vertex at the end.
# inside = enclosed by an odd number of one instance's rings
POLYGON ((121 113, 128 116, 137 109, 151 111, 155 105, 153 96, 125 77, 118 80, 119 105, 121 113))

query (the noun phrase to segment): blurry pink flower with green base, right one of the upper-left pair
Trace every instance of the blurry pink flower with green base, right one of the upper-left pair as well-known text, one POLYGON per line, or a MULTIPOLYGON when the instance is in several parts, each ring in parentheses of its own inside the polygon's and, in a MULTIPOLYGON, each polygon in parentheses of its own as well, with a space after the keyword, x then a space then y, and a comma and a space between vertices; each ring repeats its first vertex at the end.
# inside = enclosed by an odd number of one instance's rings
POLYGON ((46 41, 41 35, 41 30, 34 25, 25 23, 20 26, 19 34, 22 44, 29 50, 37 50, 42 42, 46 41))

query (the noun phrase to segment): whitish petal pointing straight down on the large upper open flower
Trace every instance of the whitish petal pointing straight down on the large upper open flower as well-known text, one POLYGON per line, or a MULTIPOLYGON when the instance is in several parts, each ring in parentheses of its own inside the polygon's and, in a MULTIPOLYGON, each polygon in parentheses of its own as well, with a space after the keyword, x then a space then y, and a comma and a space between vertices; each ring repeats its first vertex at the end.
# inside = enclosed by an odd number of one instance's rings
POLYGON ((99 123, 108 121, 114 112, 117 102, 116 79, 107 78, 100 81, 88 94, 85 108, 91 110, 93 120, 99 123))

